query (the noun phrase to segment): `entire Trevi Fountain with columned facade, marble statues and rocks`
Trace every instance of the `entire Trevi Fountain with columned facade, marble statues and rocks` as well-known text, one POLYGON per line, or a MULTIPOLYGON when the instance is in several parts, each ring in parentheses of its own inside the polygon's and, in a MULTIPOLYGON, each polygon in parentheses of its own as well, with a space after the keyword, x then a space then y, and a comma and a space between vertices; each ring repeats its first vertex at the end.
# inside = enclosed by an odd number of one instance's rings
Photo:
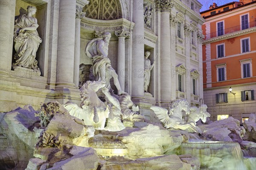
POLYGON ((13 38, 1 43, 1 95, 13 98, 1 103, 27 104, 1 110, 1 170, 256 169, 255 114, 243 124, 209 119, 199 71, 204 21, 185 1, 8 2, 1 31, 9 35, 8 26, 13 38), (185 37, 198 31, 197 51, 172 37, 179 20, 185 37), (32 76, 9 77, 19 70, 32 76), (184 82, 197 79, 197 95, 171 77, 183 70, 184 82))

